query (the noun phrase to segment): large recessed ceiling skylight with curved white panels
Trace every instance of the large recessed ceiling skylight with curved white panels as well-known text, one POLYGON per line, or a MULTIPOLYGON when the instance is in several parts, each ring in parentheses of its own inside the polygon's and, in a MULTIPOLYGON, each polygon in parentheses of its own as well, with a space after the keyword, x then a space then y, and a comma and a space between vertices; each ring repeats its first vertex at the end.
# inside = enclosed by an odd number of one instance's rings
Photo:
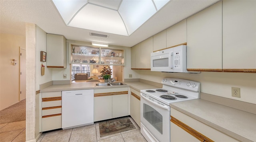
POLYGON ((170 0, 53 0, 67 26, 131 35, 170 0))

